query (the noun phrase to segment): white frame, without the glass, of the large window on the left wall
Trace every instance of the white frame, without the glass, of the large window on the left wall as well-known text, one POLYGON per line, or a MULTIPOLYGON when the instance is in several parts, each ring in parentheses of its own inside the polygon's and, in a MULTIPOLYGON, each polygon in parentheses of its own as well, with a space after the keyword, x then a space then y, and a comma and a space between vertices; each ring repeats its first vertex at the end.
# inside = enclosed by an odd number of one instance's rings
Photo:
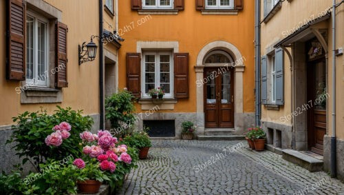
MULTIPOLYGON (((49 44, 49 20, 45 17, 42 17, 35 12, 30 10, 27 11, 27 15, 34 19, 34 61, 33 61, 33 69, 34 69, 34 76, 33 79, 25 79, 25 84, 29 84, 30 86, 41 87, 41 88, 48 88, 49 87, 49 52, 50 52, 50 44, 49 44), (38 22, 45 23, 45 72, 43 75, 39 75, 38 72, 38 22), (45 81, 39 81, 38 78, 45 77, 45 81)), ((26 23, 25 23, 26 25, 26 23)), ((26 28, 26 27, 25 27, 26 28)), ((26 34, 25 34, 26 37, 26 34)), ((28 41, 28 37, 26 37, 25 41, 28 41)), ((27 48, 25 48, 26 50, 27 48)), ((28 55, 26 55, 28 57, 28 55)), ((25 59, 26 60, 26 59, 25 59)))

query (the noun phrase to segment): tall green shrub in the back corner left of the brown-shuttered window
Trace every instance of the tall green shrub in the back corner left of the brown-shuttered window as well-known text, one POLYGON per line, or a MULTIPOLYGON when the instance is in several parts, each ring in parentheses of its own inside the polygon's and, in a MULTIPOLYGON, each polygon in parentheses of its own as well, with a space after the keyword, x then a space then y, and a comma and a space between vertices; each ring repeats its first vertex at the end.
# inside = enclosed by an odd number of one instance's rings
POLYGON ((125 127, 127 129, 135 122, 133 111, 133 99, 135 97, 127 90, 122 90, 105 99, 106 119, 111 122, 111 128, 118 129, 125 127))

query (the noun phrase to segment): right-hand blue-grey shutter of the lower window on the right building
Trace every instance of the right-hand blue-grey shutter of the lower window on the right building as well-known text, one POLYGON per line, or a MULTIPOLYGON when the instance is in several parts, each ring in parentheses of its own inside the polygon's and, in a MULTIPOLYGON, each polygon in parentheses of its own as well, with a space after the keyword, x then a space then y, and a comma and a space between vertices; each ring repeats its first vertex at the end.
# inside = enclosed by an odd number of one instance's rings
POLYGON ((284 104, 284 76, 283 76, 283 50, 277 48, 275 50, 276 64, 276 105, 284 104))

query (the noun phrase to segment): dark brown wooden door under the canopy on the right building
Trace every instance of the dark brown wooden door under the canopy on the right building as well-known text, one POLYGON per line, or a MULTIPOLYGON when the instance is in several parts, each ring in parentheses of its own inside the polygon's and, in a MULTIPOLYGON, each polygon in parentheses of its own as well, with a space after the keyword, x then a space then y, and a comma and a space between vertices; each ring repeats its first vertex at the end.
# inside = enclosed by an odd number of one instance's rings
POLYGON ((323 155, 323 137, 326 134, 326 93, 325 61, 308 63, 308 148, 323 155))

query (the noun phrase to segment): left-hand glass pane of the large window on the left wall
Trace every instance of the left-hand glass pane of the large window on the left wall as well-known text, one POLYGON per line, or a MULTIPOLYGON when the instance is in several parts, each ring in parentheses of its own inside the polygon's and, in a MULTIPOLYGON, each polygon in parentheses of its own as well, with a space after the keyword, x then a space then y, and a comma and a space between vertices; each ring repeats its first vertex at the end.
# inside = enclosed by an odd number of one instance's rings
POLYGON ((26 78, 34 79, 34 19, 26 17, 26 78))

